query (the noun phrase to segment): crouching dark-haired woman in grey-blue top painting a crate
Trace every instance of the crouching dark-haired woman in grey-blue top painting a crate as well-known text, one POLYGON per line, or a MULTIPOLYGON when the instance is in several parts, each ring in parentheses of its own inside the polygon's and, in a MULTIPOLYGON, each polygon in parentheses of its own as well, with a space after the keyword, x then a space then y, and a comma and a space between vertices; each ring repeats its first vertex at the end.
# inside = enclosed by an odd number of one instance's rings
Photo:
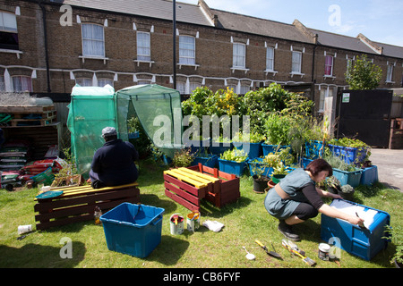
POLYGON ((288 240, 300 240, 292 225, 304 223, 319 213, 363 225, 363 219, 342 213, 323 203, 322 197, 341 198, 339 195, 315 186, 315 182, 320 182, 332 174, 330 164, 323 159, 316 159, 305 169, 298 168, 288 173, 274 188, 270 189, 264 200, 264 206, 269 214, 279 219, 278 229, 288 240))

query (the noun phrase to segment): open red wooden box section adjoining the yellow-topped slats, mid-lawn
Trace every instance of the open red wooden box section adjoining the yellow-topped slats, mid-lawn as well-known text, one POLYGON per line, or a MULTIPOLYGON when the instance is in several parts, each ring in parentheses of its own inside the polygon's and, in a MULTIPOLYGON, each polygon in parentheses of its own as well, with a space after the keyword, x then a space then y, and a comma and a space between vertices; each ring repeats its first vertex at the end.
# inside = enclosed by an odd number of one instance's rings
POLYGON ((221 172, 217 168, 210 168, 200 163, 188 167, 188 169, 208 174, 219 179, 217 186, 213 188, 213 191, 208 191, 205 197, 205 199, 214 204, 214 206, 222 207, 229 203, 235 202, 241 197, 241 193, 239 191, 240 181, 235 174, 221 172))

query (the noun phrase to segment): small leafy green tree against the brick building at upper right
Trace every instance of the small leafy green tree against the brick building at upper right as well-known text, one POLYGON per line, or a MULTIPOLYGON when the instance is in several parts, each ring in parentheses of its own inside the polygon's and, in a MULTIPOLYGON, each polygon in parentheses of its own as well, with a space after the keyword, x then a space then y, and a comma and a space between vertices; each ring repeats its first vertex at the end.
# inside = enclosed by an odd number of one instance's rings
POLYGON ((382 80, 382 70, 369 61, 366 55, 361 55, 357 57, 354 66, 348 66, 345 76, 350 89, 374 89, 382 80))

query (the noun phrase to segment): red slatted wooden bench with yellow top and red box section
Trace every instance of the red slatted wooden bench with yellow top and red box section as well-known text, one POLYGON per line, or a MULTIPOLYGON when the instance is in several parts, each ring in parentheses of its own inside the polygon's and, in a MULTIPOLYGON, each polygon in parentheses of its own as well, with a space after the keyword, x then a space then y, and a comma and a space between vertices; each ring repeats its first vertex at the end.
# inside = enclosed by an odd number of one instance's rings
POLYGON ((224 206, 240 197, 239 178, 202 164, 164 172, 165 194, 191 211, 200 211, 202 198, 224 206))

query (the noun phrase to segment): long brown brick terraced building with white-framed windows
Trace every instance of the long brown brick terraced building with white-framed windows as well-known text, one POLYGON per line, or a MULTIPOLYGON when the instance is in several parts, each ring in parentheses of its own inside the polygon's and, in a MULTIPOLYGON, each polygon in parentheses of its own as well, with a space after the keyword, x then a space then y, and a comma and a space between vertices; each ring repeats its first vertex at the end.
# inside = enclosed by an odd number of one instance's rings
MULTIPOLYGON (((0 91, 70 93, 73 86, 174 87, 172 2, 0 0, 0 91)), ((252 88, 278 82, 322 111, 347 88, 347 64, 368 55, 380 88, 402 86, 403 47, 176 3, 176 88, 252 88)))

